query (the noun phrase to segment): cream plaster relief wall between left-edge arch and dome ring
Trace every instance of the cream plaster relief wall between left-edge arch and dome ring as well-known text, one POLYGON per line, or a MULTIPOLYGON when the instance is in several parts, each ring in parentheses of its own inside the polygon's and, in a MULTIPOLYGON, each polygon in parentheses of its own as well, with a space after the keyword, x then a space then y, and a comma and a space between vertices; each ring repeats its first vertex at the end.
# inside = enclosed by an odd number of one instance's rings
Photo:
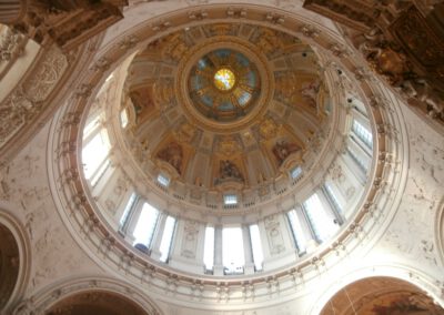
POLYGON ((65 274, 99 271, 71 238, 59 215, 54 215, 57 210, 44 159, 48 130, 48 126, 41 130, 14 160, 4 165, 0 177, 1 199, 13 204, 14 214, 31 241, 30 291, 65 274))

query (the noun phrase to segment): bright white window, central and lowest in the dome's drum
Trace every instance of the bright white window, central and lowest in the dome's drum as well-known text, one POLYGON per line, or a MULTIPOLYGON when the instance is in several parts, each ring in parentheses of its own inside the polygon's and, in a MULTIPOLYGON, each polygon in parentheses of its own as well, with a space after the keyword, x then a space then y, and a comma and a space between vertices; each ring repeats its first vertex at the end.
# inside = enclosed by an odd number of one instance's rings
POLYGON ((225 274, 243 273, 245 264, 241 227, 222 230, 222 262, 225 274))

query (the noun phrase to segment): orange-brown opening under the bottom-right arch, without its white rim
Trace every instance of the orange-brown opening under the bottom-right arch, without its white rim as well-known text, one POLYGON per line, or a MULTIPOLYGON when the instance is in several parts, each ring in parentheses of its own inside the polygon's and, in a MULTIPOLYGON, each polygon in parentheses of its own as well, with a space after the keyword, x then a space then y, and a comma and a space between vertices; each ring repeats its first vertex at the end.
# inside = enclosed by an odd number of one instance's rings
POLYGON ((324 306, 333 314, 444 314, 444 309, 417 286, 394 277, 369 277, 340 289, 324 306))

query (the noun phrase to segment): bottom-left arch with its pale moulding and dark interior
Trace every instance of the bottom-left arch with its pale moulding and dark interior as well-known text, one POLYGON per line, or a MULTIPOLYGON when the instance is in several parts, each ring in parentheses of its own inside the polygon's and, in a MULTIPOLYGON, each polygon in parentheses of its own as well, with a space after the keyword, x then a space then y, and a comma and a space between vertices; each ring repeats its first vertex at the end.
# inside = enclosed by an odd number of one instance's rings
POLYGON ((12 314, 137 314, 162 315, 143 292, 122 281, 105 277, 80 277, 50 285, 23 299, 12 314))

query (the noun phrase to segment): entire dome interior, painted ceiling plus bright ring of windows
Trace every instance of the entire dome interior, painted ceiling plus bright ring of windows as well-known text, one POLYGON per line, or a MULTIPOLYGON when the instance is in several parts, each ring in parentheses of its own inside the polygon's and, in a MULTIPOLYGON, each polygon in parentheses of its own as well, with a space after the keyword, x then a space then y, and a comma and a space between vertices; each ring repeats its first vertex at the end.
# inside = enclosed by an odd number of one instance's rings
POLYGON ((147 258, 219 276, 325 247, 362 203, 373 155, 365 106, 326 60, 249 23, 183 28, 128 58, 83 131, 110 226, 147 258))

